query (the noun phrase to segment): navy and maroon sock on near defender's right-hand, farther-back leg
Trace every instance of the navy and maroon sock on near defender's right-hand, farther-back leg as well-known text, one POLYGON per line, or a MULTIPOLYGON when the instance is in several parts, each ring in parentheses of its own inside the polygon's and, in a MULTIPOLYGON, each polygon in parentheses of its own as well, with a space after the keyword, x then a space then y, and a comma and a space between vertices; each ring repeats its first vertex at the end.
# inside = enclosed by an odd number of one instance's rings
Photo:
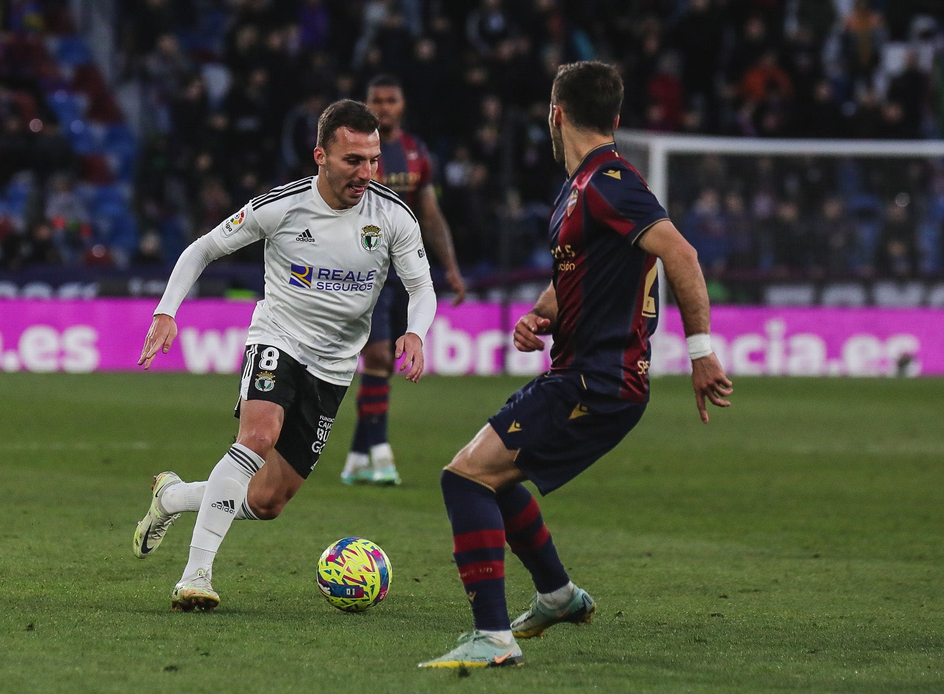
POLYGON ((541 517, 541 508, 528 488, 517 484, 502 489, 496 495, 496 502, 505 523, 508 544, 531 571, 537 591, 550 593, 565 587, 570 579, 541 517))

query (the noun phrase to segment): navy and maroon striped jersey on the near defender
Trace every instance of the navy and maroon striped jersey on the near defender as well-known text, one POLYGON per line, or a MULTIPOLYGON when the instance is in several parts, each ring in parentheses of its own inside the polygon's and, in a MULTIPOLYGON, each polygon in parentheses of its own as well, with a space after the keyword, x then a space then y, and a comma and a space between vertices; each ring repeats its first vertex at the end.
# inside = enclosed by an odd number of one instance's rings
POLYGON ((579 372, 587 388, 622 400, 649 400, 659 292, 656 258, 637 241, 666 218, 615 144, 583 158, 550 219, 557 292, 552 370, 579 372))

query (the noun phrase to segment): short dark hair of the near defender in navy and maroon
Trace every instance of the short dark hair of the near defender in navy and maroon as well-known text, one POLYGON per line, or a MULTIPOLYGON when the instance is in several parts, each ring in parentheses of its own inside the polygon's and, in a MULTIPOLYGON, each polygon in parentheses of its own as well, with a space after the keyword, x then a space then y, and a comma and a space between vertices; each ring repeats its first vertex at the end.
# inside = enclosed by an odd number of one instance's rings
POLYGON ((623 78, 598 60, 568 63, 557 69, 550 100, 576 127, 609 135, 623 105, 623 78))

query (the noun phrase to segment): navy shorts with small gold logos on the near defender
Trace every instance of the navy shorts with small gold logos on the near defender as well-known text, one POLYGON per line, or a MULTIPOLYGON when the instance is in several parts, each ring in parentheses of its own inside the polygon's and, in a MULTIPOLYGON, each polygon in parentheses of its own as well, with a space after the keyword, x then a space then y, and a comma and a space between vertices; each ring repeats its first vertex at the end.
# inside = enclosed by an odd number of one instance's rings
POLYGON ((514 463, 542 494, 565 485, 619 443, 646 411, 588 390, 580 373, 547 372, 490 418, 514 463))

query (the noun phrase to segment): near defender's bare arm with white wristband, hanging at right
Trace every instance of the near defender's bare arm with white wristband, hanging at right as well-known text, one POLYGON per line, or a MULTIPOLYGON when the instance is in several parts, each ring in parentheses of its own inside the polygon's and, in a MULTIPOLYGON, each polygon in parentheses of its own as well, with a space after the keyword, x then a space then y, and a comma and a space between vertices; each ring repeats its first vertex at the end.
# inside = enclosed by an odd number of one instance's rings
POLYGON ((652 224, 638 243, 644 251, 662 260, 666 278, 679 303, 685 337, 689 339, 688 354, 692 357, 695 402, 701 421, 707 424, 705 400, 718 407, 728 407, 731 403, 724 398, 733 393, 733 388, 708 342, 711 306, 698 253, 668 220, 652 224))

